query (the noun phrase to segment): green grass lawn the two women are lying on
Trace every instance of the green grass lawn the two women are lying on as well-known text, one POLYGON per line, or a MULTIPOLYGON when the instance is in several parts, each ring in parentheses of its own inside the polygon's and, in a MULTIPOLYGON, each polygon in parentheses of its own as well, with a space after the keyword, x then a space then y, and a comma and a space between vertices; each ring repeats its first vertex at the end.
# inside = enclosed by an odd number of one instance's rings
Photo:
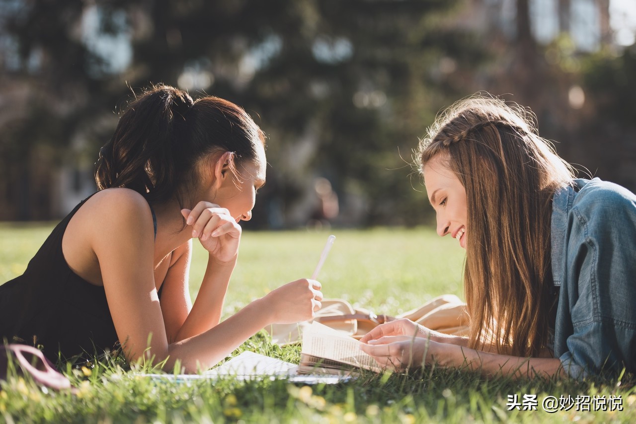
MULTIPOLYGON (((52 227, 0 224, 0 282, 19 275, 52 227)), ((336 242, 319 280, 326 297, 343 297, 377 313, 397 314, 460 284, 464 252, 431 229, 333 230, 336 242)), ((244 233, 239 265, 225 305, 228 315, 252 299, 314 271, 329 233, 244 233)), ((197 243, 195 243, 197 245, 197 243)), ((191 292, 205 270, 197 245, 191 292)), ((298 360, 298 346, 280 348, 263 333, 240 350, 298 360)), ((237 351, 237 352, 239 352, 237 351)), ((145 369, 144 371, 153 371, 145 369)), ((2 383, 0 421, 41 422, 620 422, 636 421, 636 390, 625 381, 485 380, 474 373, 426 368, 410 375, 366 375, 342 385, 292 385, 284 380, 197 381, 191 384, 139 378, 116 360, 65 373, 76 394, 42 390, 31 381, 2 383), (508 411, 508 395, 537 395, 537 411, 508 411), (550 414, 546 396, 618 396, 623 411, 550 414)), ((591 408, 593 409, 593 407, 591 408)))

